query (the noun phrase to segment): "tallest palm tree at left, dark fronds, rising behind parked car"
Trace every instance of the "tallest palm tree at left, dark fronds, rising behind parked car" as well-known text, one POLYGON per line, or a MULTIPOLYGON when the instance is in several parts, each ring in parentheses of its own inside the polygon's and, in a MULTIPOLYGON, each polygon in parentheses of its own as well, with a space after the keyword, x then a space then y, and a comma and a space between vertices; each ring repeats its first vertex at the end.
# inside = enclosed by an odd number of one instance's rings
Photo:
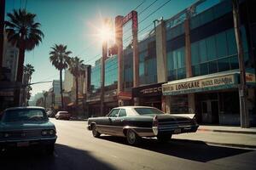
MULTIPOLYGON (((26 9, 14 9, 13 13, 8 13, 8 21, 5 21, 5 30, 9 42, 19 48, 17 82, 22 82, 23 64, 25 51, 30 51, 42 42, 44 33, 39 30, 40 23, 35 22, 36 14, 26 11, 26 9)), ((15 91, 15 105, 20 103, 20 89, 15 91)))

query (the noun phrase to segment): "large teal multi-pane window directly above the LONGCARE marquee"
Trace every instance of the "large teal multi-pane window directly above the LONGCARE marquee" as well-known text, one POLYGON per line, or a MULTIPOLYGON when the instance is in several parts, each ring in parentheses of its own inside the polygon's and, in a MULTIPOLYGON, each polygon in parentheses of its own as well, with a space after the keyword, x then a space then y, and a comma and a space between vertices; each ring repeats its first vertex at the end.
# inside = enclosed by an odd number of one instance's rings
MULTIPOLYGON (((249 56, 244 26, 241 26, 241 37, 247 63, 249 56)), ((194 77, 238 69, 234 28, 191 43, 191 64, 194 77)))

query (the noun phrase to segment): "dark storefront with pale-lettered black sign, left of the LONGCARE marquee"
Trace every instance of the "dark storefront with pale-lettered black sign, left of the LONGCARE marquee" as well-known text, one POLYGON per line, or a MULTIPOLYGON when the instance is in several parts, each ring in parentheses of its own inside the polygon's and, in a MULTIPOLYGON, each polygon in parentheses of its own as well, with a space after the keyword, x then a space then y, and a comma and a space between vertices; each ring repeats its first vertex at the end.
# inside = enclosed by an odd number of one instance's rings
POLYGON ((152 106, 161 110, 162 84, 158 83, 132 88, 132 98, 138 98, 139 105, 152 106))

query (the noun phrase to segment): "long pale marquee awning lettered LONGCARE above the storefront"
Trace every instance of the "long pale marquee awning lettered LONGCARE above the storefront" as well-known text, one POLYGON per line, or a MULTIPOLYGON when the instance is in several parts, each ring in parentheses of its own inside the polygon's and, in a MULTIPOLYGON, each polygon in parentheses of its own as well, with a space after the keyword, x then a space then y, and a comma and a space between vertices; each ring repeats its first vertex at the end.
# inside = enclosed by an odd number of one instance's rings
POLYGON ((224 71, 185 78, 162 85, 163 95, 190 94, 227 88, 238 88, 239 71, 224 71))

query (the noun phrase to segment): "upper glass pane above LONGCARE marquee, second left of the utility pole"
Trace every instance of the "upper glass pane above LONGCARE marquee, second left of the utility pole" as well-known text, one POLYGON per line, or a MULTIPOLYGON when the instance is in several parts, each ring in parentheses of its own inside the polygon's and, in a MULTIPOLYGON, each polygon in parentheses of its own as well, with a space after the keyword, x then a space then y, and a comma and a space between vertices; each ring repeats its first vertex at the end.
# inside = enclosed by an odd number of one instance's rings
POLYGON ((228 50, 227 50, 228 47, 227 47, 225 32, 221 32, 216 35, 216 49, 217 49, 218 58, 224 57, 228 54, 228 50))

